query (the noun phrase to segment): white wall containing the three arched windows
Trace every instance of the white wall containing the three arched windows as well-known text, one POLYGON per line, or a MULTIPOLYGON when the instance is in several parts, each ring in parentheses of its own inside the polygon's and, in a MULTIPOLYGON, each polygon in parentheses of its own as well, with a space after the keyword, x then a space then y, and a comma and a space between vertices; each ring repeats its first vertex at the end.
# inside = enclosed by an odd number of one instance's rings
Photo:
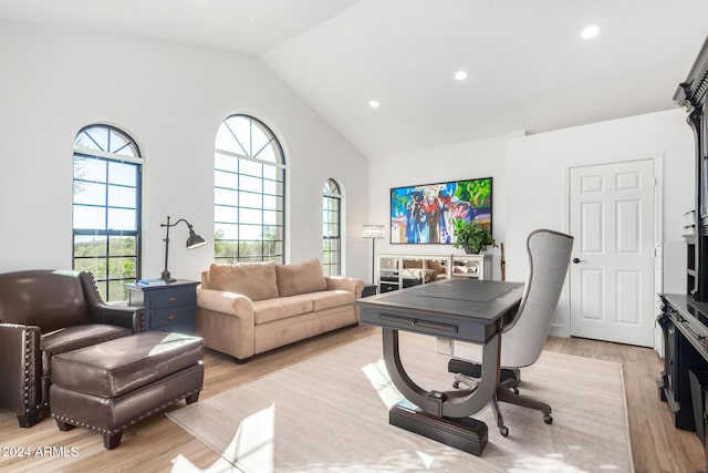
MULTIPOLYGON (((71 267, 72 145, 87 124, 115 124, 144 157, 144 277, 164 258, 166 216, 214 235, 214 142, 230 114, 267 123, 285 150, 292 263, 322 257, 322 185, 346 195, 345 267, 367 274, 366 161, 287 84, 248 56, 0 20, 0 271, 71 267)), ((173 276, 198 279, 208 245, 170 233, 173 276)))

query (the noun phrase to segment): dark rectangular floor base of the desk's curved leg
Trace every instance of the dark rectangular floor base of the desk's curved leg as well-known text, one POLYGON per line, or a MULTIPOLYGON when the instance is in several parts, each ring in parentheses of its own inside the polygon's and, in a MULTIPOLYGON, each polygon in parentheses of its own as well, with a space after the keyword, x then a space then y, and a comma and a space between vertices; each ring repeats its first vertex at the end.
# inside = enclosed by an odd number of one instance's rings
POLYGON ((388 423, 476 456, 487 446, 487 424, 472 418, 438 418, 403 400, 388 411, 388 423))

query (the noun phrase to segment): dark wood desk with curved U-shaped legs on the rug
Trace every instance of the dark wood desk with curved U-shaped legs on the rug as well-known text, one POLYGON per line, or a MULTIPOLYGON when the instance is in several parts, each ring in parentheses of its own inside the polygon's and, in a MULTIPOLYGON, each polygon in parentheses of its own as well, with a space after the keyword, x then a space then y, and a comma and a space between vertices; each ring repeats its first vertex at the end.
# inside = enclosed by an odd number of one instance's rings
POLYGON ((389 423, 481 455, 487 425, 470 415, 487 405, 497 390, 501 330, 522 295, 520 282, 449 279, 357 299, 362 323, 382 327, 388 376, 410 401, 392 408, 389 423), (418 387, 400 362, 398 330, 481 345, 482 377, 477 389, 426 391, 418 387))

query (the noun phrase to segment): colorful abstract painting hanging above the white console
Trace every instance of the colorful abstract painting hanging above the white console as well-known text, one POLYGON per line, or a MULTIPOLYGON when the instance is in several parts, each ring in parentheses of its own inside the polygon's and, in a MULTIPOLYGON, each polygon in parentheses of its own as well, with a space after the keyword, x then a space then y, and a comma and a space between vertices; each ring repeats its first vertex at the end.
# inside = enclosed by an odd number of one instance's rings
POLYGON ((455 243, 455 220, 491 228, 491 177, 391 189, 391 243, 455 243))

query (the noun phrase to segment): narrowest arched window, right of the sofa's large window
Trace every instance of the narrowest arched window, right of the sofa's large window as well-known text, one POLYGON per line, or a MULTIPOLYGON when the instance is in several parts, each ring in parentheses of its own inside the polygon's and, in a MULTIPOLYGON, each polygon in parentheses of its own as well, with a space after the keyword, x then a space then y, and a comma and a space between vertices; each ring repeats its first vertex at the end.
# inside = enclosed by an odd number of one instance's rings
POLYGON ((322 188, 322 261, 324 274, 342 274, 342 192, 334 179, 322 188))

